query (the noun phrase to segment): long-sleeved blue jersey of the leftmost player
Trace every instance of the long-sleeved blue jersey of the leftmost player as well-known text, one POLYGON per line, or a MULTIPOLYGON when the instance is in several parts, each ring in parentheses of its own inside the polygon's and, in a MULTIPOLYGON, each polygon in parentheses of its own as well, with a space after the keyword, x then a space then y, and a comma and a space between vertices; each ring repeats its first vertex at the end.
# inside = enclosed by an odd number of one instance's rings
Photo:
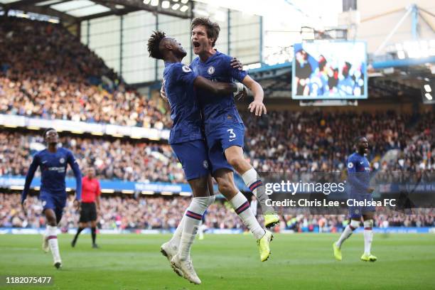
POLYGON ((26 199, 28 189, 30 188, 31 181, 33 180, 33 176, 36 169, 38 169, 38 166, 41 168, 41 192, 65 193, 65 176, 68 164, 73 168, 76 179, 77 199, 80 200, 82 192, 82 176, 80 168, 78 167, 73 153, 62 147, 58 148, 55 153, 48 151, 48 149, 44 149, 33 156, 33 161, 28 169, 26 183, 21 195, 22 200, 26 199))

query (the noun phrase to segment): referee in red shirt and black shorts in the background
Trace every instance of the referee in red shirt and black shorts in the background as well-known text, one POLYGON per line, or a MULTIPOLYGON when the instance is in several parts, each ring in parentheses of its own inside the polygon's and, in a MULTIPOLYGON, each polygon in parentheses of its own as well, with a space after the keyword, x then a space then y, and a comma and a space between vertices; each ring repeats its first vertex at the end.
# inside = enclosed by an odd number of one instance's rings
POLYGON ((92 247, 98 248, 98 245, 95 244, 95 238, 97 237, 97 209, 100 210, 100 194, 100 182, 95 178, 95 169, 89 167, 87 168, 86 176, 82 178, 82 203, 80 204, 79 228, 73 242, 71 242, 72 247, 75 247, 77 237, 90 222, 92 247))

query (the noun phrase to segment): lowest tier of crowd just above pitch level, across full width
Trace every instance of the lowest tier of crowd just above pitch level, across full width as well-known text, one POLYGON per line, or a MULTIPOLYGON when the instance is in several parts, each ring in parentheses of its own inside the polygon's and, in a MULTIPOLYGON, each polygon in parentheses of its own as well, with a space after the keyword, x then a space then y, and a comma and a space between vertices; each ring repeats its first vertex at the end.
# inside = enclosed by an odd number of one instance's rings
MULTIPOLYGON (((100 198, 98 224, 100 229, 165 229, 170 230, 178 225, 190 198, 176 197, 139 197, 119 196, 100 198)), ((20 205, 20 195, 16 193, 0 193, 0 227, 45 226, 45 218, 41 214, 41 201, 35 196, 28 198, 28 216, 24 215, 20 205)), ((68 199, 60 227, 64 229, 77 227, 78 213, 73 208, 73 196, 68 199)), ((261 217, 259 217, 261 218, 261 217)), ((348 223, 347 215, 281 215, 281 230, 296 232, 340 232, 348 223)), ((205 225, 208 228, 242 229, 243 225, 227 203, 217 201, 207 210, 205 225)), ((435 210, 414 210, 413 215, 377 210, 376 227, 434 227, 435 210)))

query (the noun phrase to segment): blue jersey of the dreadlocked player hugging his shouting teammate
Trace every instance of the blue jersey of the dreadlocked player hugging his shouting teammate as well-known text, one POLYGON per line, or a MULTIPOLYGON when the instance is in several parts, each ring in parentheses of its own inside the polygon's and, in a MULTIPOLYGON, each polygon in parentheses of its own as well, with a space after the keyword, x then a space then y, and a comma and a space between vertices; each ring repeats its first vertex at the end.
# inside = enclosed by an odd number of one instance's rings
POLYGON ((202 119, 193 81, 198 77, 183 63, 165 63, 163 84, 173 125, 169 144, 203 139, 202 119))

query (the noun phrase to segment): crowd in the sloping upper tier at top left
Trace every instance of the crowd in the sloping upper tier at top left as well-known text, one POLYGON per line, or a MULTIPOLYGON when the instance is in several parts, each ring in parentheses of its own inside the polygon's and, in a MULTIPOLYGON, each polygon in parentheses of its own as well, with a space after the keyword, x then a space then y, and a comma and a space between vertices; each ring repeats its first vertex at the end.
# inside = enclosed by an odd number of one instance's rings
POLYGON ((0 114, 163 129, 166 107, 122 82, 60 24, 0 17, 0 114))

